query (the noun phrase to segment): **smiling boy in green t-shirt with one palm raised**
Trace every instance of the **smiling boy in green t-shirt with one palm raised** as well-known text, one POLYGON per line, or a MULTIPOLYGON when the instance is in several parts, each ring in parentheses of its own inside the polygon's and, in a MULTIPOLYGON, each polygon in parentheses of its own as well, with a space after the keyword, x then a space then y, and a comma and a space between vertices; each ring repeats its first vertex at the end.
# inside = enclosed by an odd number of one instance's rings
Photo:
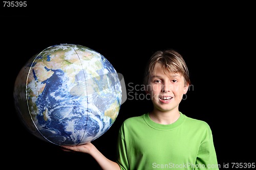
POLYGON ((90 154, 102 169, 219 169, 210 127, 179 111, 190 85, 183 57, 157 51, 147 64, 145 92, 153 110, 124 120, 119 130, 118 159, 104 157, 91 143, 63 148, 90 154))

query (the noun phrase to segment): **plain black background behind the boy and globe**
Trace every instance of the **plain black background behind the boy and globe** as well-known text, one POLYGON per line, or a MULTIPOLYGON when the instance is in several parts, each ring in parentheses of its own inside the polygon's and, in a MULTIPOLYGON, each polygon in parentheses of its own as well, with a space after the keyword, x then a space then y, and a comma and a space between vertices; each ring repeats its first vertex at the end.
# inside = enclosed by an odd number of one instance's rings
MULTIPOLYGON (((194 87, 180 111, 210 125, 221 168, 232 162, 255 162, 255 18, 249 4, 27 4, 1 9, 2 164, 100 169, 90 155, 63 152, 34 137, 14 109, 12 93, 19 70, 33 55, 60 43, 87 46, 102 54, 123 75, 127 92, 129 83, 142 84, 145 63, 153 52, 178 50, 194 87)), ((92 141, 111 160, 116 159, 123 120, 152 108, 150 101, 127 97, 113 126, 92 141)))

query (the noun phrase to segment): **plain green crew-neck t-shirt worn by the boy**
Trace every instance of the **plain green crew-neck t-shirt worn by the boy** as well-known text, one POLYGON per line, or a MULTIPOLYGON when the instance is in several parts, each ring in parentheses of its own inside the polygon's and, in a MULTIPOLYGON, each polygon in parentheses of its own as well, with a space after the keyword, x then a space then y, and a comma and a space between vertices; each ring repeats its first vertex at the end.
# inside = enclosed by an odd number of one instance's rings
POLYGON ((219 169, 210 127, 181 112, 169 125, 153 122, 148 113, 126 119, 117 147, 121 169, 219 169))

